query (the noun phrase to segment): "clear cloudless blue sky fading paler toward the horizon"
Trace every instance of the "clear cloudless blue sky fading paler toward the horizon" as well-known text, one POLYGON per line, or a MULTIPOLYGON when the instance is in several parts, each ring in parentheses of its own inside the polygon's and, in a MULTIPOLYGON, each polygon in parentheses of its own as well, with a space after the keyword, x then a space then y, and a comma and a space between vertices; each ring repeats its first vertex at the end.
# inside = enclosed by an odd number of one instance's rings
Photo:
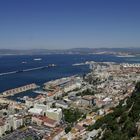
POLYGON ((0 0, 0 49, 140 47, 140 0, 0 0))

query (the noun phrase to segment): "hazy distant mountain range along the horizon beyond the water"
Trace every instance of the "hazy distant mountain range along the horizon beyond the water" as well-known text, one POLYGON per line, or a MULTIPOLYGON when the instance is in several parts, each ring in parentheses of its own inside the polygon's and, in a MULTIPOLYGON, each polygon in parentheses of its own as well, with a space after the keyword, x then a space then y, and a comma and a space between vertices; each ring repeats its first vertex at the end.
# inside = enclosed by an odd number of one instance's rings
POLYGON ((63 50, 30 49, 12 50, 0 49, 0 55, 44 55, 44 54, 140 54, 140 48, 73 48, 63 50))

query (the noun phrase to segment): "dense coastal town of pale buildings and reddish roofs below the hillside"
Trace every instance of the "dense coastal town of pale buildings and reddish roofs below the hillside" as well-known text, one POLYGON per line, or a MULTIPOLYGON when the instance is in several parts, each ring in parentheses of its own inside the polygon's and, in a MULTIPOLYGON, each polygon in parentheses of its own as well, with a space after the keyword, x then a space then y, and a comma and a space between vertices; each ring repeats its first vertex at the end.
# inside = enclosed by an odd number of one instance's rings
POLYGON ((92 140, 100 133, 100 129, 88 128, 131 96, 140 81, 140 64, 86 63, 91 72, 83 76, 49 81, 41 88, 33 83, 1 93, 0 139, 92 140), (28 90, 38 96, 26 97, 24 102, 7 98, 28 90))

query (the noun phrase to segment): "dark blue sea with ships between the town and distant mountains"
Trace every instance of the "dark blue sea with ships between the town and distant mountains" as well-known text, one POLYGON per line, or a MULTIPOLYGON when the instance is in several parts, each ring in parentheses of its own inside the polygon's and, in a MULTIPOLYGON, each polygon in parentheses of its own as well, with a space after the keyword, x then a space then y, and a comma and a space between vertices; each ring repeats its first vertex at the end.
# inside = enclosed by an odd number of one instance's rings
MULTIPOLYGON (((86 61, 139 63, 137 57, 117 57, 107 54, 48 54, 48 55, 1 55, 0 56, 0 93, 5 90, 16 88, 30 83, 42 86, 43 83, 71 75, 83 75, 90 72, 88 65, 73 66, 75 63, 86 61), (13 71, 22 71, 37 67, 49 67, 28 72, 19 72, 3 75, 13 71)), ((20 94, 21 96, 22 94, 20 94)), ((23 96, 25 94, 23 93, 23 96)), ((34 96, 35 93, 27 93, 34 96)), ((17 95, 16 95, 17 96, 17 95)), ((15 98, 13 96, 12 98, 15 98)))

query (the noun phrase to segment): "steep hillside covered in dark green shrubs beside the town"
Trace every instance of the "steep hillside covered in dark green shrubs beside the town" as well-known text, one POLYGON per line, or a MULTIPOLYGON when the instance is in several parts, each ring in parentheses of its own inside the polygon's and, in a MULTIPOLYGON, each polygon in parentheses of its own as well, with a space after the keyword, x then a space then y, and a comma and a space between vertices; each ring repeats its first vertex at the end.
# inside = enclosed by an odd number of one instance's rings
POLYGON ((101 140, 139 140, 140 139, 140 82, 135 92, 110 113, 98 120, 89 130, 101 128, 96 139, 101 140))

